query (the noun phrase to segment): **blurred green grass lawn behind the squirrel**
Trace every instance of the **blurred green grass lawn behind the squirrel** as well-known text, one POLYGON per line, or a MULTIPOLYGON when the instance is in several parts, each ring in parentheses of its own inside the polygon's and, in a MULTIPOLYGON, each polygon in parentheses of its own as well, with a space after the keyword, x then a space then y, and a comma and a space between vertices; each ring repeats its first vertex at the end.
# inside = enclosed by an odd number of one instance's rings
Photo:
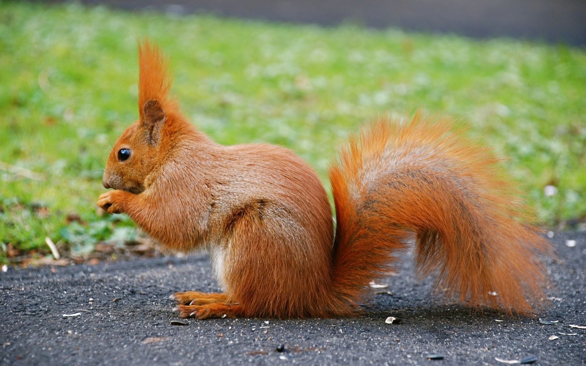
POLYGON ((0 260, 9 243, 91 250, 124 217, 96 214, 101 169, 137 118, 137 39, 169 55, 186 115, 224 144, 271 142, 322 177, 384 112, 452 115, 483 136, 548 225, 586 216, 586 52, 510 39, 0 2, 0 260), (546 197, 553 184, 558 194, 546 197), (79 214, 85 225, 67 225, 79 214))

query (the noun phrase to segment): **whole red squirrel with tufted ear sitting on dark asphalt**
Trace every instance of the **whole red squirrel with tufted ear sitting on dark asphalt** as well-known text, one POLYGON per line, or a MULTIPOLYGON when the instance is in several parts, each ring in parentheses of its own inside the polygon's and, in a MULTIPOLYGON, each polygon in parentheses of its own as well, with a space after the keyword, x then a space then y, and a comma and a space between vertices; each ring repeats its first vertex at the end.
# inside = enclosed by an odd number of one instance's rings
POLYGON ((116 141, 98 206, 164 247, 210 254, 222 293, 172 295, 180 317, 344 317, 414 245, 447 299, 507 313, 541 307, 550 243, 492 151, 448 120, 380 118, 329 169, 335 221, 314 170, 288 149, 223 146, 169 97, 168 60, 139 45, 139 119, 116 141), (334 232, 335 227, 335 232, 334 232), (414 242, 414 244, 413 244, 414 242))

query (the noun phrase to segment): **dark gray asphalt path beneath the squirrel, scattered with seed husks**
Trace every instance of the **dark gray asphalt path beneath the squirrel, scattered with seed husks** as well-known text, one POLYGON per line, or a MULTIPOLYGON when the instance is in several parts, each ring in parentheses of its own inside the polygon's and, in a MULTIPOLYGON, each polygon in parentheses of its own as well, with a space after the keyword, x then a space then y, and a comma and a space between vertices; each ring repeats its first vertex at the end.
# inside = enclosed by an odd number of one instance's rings
POLYGON ((1 365, 540 365, 586 363, 586 233, 553 238, 555 297, 539 317, 438 305, 410 261, 353 319, 179 320, 171 293, 217 291, 207 256, 0 272, 1 365), (565 240, 577 242, 575 247, 565 240), (63 314, 81 313, 63 317, 63 314), (386 324, 387 316, 400 324, 386 324), (496 321, 496 320, 503 321, 496 321), (560 333, 576 334, 568 336, 560 333), (548 340, 556 335, 559 338, 548 340), (284 352, 276 348, 284 345, 284 352), (431 353, 443 360, 427 360, 431 353))

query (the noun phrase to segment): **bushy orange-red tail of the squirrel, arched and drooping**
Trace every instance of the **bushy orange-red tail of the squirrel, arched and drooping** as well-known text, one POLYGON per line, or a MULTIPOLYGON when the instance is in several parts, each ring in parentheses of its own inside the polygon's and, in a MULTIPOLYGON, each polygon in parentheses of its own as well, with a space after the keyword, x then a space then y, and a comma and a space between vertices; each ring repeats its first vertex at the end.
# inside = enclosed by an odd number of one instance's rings
POLYGON ((547 281, 550 244, 486 148, 449 121, 380 119, 340 151, 329 171, 336 207, 332 286, 356 305, 415 234, 421 276, 472 306, 532 313, 547 281))

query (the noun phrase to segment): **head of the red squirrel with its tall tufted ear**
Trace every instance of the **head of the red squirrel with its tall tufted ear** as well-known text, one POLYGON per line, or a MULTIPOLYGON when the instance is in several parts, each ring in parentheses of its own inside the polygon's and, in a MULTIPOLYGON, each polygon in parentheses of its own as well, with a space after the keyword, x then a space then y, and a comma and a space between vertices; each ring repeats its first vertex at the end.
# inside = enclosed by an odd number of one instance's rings
POLYGON ((131 124, 110 152, 102 184, 105 188, 140 193, 145 180, 168 148, 163 134, 180 119, 176 102, 169 99, 171 76, 168 61, 148 40, 139 43, 139 119, 131 124))

